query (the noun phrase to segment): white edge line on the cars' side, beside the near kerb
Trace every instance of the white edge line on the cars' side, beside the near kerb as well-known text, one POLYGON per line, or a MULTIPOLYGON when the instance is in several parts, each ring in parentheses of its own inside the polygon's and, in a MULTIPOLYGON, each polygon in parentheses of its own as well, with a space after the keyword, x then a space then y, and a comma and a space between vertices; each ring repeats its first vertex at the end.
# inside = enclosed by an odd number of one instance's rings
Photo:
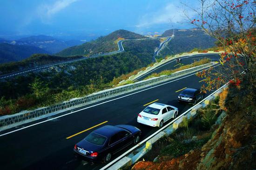
MULTIPOLYGON (((227 85, 228 83, 226 83, 225 85, 227 85)), ((212 96, 214 93, 218 92, 220 89, 222 89, 225 85, 223 85, 221 88, 217 89, 215 92, 211 93, 209 96, 212 96)), ((209 97, 208 96, 208 97, 209 97)), ((207 97, 207 98, 208 98, 207 97)), ((104 166, 103 168, 101 168, 100 170, 105 170, 107 169, 109 166, 111 166, 113 163, 117 162, 119 159, 121 159, 121 157, 124 157, 125 155, 127 155, 129 152, 131 152, 132 150, 134 150, 135 148, 137 148, 138 146, 140 146, 141 144, 143 144, 144 142, 148 141, 148 139, 150 139, 151 137, 154 137, 157 133, 159 133, 160 131, 164 130, 165 128, 167 128, 170 124, 173 124, 177 119, 181 118, 184 114, 186 114, 187 112, 191 111, 195 106, 201 104, 204 100, 206 100, 207 98, 204 98, 203 100, 201 100, 199 103, 197 103, 196 105, 194 105, 193 107, 190 107, 187 111, 185 111, 184 113, 182 113, 179 117, 175 118, 174 120, 172 120, 171 122, 169 122, 168 124, 166 124, 165 126, 163 126, 161 129, 159 129, 158 131, 156 131, 155 133, 153 133, 152 135, 150 135, 149 137, 147 137, 146 139, 144 139, 143 141, 141 141, 139 144, 135 145, 134 147, 132 147, 130 150, 126 151, 125 153, 123 153, 121 156, 115 158, 112 162, 108 163, 106 166, 104 166)))

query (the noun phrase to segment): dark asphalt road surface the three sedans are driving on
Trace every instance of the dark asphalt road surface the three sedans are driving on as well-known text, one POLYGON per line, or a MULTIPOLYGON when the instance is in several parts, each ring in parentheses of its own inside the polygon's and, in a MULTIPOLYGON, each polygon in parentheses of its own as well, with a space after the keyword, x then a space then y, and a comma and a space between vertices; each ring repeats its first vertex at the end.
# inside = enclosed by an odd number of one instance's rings
MULTIPOLYGON (((145 91, 141 89, 92 105, 86 105, 79 108, 82 109, 80 111, 41 124, 35 123, 47 120, 47 118, 1 131, 1 170, 100 169, 105 164, 86 164, 84 161, 76 160, 73 155, 74 144, 82 140, 95 128, 74 137, 70 136, 108 121, 98 127, 107 124, 130 124, 141 129, 142 139, 148 137, 157 131, 158 128, 137 123, 136 118, 138 113, 146 107, 143 105, 157 100, 159 103, 177 107, 179 114, 188 110, 192 105, 178 103, 177 96, 180 92, 177 91, 184 87, 200 88, 203 84, 202 79, 196 77, 195 74, 189 75, 152 86, 154 88, 147 87, 145 89, 148 90, 144 89, 145 91), (93 105, 94 107, 89 107, 93 105), (32 126, 12 132, 28 125, 32 126), (3 135, 7 132, 11 133, 3 135), (67 137, 70 138, 67 139, 67 137)), ((55 117, 64 114, 58 114, 55 117)), ((126 150, 128 148, 119 152, 115 157, 121 155, 126 150)))

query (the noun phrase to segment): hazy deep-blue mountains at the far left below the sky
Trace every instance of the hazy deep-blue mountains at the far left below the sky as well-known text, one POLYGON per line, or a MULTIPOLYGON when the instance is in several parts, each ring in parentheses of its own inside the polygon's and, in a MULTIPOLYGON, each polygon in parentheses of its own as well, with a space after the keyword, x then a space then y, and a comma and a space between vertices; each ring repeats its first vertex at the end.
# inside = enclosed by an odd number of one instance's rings
POLYGON ((54 54, 82 43, 84 42, 79 40, 63 41, 46 35, 30 36, 18 40, 0 38, 0 63, 20 61, 35 53, 54 54))

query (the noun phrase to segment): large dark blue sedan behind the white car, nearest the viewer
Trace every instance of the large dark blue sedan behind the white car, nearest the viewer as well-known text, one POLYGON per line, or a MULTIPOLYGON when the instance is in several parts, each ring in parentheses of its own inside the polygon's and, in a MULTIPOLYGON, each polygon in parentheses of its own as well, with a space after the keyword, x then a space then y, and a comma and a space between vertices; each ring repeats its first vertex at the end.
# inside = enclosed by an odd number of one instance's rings
POLYGON ((130 144, 138 144, 141 130, 131 125, 106 125, 96 129, 74 145, 75 155, 89 162, 107 163, 113 154, 130 144))

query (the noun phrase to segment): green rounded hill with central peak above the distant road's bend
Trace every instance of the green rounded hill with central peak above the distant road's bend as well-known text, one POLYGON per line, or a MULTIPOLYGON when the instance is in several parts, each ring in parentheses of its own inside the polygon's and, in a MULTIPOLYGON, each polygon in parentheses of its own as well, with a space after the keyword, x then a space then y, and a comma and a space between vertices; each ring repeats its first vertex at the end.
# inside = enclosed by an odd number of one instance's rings
POLYGON ((89 55, 99 52, 112 52, 118 50, 118 39, 146 39, 147 37, 137 33, 133 33, 127 30, 117 30, 104 37, 99 37, 94 41, 84 43, 79 46, 72 46, 61 52, 58 52, 59 56, 74 56, 74 55, 89 55))

